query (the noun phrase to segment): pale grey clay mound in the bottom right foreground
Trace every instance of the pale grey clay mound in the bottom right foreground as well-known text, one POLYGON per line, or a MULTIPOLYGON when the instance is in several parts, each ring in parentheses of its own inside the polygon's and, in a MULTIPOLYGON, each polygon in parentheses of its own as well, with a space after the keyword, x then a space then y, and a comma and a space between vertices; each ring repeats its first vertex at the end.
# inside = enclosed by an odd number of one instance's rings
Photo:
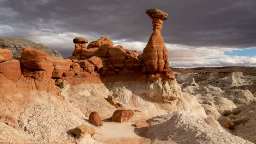
POLYGON ((181 111, 153 118, 147 135, 154 144, 253 144, 209 127, 203 120, 181 111), (172 143, 171 143, 171 142, 172 143))

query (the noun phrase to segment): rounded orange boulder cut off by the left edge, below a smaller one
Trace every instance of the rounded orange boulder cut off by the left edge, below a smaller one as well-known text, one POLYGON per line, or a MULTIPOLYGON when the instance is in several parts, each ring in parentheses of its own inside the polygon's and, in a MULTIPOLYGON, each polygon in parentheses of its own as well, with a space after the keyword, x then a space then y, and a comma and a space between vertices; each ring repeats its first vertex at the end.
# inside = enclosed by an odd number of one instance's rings
POLYGON ((10 80, 18 80, 21 75, 19 59, 9 59, 0 63, 0 73, 10 80))

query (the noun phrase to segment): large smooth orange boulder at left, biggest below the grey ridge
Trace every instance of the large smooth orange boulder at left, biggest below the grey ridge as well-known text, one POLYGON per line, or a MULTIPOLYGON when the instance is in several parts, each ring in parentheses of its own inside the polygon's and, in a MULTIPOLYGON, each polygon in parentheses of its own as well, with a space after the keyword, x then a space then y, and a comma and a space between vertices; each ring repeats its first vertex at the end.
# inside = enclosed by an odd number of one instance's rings
POLYGON ((21 64, 27 69, 45 70, 47 77, 52 76, 52 60, 48 54, 41 50, 23 48, 21 53, 21 64))

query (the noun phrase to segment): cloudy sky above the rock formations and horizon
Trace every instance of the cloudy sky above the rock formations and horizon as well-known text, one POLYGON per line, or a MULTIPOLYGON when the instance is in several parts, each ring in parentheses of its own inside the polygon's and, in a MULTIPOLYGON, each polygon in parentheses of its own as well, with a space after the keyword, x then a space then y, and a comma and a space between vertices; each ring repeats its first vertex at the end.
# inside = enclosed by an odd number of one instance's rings
POLYGON ((256 66, 256 0, 0 0, 0 37, 68 57, 73 38, 105 36, 141 54, 152 8, 169 14, 161 33, 171 67, 256 66))

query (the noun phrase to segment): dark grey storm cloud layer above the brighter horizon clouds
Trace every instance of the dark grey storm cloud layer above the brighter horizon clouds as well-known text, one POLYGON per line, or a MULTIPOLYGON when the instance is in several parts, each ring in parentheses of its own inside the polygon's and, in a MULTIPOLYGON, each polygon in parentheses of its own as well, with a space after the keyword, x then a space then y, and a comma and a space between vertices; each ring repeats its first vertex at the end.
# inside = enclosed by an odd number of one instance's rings
POLYGON ((17 32, 5 35, 26 39, 26 31, 39 30, 147 42, 152 24, 145 11, 151 8, 169 14, 166 43, 256 46, 255 0, 0 0, 0 25, 17 32))

